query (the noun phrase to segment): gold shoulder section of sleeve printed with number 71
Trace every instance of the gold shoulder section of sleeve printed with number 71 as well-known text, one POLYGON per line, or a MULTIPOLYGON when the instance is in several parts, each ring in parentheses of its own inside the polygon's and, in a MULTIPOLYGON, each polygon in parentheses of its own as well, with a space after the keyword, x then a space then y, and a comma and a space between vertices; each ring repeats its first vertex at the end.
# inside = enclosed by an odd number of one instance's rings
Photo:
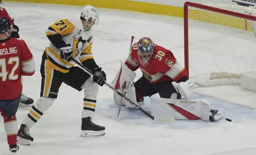
POLYGON ((64 36, 66 34, 70 34, 75 30, 76 26, 74 26, 68 19, 61 19, 52 24, 48 30, 46 31, 46 35, 60 34, 64 36), (54 32, 55 31, 55 32, 54 32))

